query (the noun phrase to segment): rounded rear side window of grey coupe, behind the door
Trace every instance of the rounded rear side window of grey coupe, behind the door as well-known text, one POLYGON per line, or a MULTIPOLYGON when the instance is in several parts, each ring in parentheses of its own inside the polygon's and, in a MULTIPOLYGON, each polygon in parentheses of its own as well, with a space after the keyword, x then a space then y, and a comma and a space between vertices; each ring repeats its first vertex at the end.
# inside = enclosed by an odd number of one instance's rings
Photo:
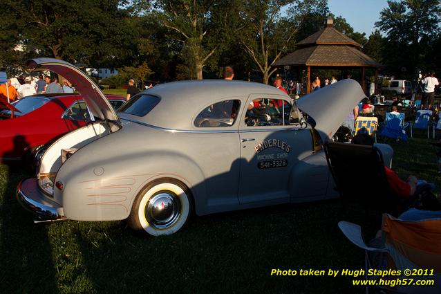
POLYGON ((209 105, 200 111, 194 125, 196 127, 230 127, 236 121, 240 100, 225 100, 209 105))

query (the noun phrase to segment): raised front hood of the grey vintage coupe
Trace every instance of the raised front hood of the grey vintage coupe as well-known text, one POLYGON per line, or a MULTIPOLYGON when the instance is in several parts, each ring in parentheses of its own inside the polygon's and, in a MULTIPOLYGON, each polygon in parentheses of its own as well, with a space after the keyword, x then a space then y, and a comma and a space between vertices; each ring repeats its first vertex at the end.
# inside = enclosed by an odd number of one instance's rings
POLYGON ((365 97, 357 81, 346 79, 312 92, 296 103, 301 111, 315 120, 315 129, 325 143, 334 136, 350 111, 365 97))

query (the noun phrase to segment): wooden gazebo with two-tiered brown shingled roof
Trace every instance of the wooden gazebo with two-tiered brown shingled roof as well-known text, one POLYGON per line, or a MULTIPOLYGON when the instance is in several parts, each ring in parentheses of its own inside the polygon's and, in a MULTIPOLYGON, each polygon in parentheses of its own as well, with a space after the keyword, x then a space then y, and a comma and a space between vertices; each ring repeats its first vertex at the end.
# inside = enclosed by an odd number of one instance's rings
MULTIPOLYGON (((276 62, 275 66, 306 68, 306 93, 310 93, 311 68, 340 69, 360 68, 363 91, 366 93, 366 68, 375 69, 375 81, 382 64, 362 53, 362 45, 333 28, 334 20, 328 18, 326 27, 297 43, 297 50, 276 62)), ((303 71, 304 72, 304 71, 303 71)))

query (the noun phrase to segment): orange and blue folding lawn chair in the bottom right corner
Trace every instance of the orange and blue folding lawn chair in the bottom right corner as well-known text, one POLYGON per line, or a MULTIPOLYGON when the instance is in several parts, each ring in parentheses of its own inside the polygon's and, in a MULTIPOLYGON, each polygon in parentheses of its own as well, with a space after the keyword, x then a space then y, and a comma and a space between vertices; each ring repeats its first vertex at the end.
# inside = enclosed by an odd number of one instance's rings
POLYGON ((361 227, 355 223, 340 221, 339 228, 353 244, 365 250, 366 273, 369 268, 400 270, 398 276, 366 275, 368 280, 377 280, 377 286, 366 286, 366 293, 441 293, 441 218, 404 221, 383 214, 382 237, 371 241, 371 246, 364 242, 361 227), (405 275, 405 270, 411 270, 411 275, 405 275), (433 275, 426 275, 431 270, 433 275), (404 279, 410 285, 402 285, 404 279), (413 284, 430 280, 434 281, 433 286, 413 284))

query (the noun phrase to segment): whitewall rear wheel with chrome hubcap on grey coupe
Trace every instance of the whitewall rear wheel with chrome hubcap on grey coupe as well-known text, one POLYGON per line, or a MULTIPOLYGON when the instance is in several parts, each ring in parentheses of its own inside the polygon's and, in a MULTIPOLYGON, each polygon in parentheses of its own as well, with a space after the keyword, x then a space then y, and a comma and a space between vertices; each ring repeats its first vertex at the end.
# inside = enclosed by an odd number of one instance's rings
POLYGON ((192 208, 189 189, 173 178, 147 184, 132 205, 127 222, 149 235, 171 235, 189 219, 192 208))

